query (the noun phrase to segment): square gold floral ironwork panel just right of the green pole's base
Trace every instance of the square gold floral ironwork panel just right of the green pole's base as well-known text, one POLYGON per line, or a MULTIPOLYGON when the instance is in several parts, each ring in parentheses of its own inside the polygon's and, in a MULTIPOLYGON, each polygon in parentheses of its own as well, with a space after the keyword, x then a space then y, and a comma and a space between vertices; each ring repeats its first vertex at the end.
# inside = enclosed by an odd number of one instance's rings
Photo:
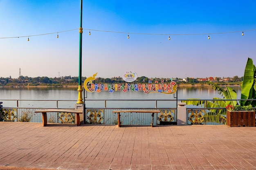
POLYGON ((103 115, 104 114, 104 110, 94 110, 94 109, 90 109, 87 110, 87 119, 90 122, 90 124, 103 124, 103 115))

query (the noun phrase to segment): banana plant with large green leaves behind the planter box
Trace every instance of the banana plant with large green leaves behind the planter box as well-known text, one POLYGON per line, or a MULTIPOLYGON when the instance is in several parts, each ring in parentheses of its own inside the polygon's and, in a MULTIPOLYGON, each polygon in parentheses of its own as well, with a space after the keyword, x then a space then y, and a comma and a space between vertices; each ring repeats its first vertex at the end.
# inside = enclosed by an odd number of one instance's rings
MULTIPOLYGON (((253 61, 251 58, 248 58, 247 64, 245 67, 245 73, 244 73, 244 79, 241 85, 241 99, 256 99, 256 68, 253 64, 253 61)), ((205 101, 201 99, 189 99, 185 102, 187 105, 192 104, 195 106, 199 106, 204 104, 205 108, 225 108, 227 105, 238 105, 238 102, 234 99, 237 99, 237 93, 234 89, 226 86, 226 90, 224 88, 221 88, 217 84, 213 82, 207 82, 211 86, 212 89, 215 91, 218 91, 221 96, 224 97, 224 99, 227 99, 226 101, 221 100, 220 98, 213 98, 213 101, 205 101), (220 99, 220 100, 218 100, 220 99)), ((248 106, 252 105, 253 107, 256 106, 256 101, 249 101, 249 100, 241 100, 240 105, 241 106, 248 106)), ((216 122, 216 123, 226 123, 226 118, 222 115, 225 115, 225 109, 211 109, 209 110, 209 113, 206 113, 204 115, 205 121, 209 122, 216 122)))

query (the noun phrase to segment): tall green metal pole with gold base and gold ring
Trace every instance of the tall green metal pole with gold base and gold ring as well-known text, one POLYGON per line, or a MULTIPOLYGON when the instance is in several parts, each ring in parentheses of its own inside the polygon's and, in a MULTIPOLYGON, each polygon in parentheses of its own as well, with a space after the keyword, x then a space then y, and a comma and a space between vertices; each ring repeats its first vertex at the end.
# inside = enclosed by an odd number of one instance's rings
POLYGON ((83 28, 82 28, 82 16, 83 16, 83 0, 81 0, 81 12, 80 12, 80 28, 79 28, 79 77, 78 77, 78 99, 76 104, 83 104, 83 98, 82 98, 82 34, 83 34, 83 28))

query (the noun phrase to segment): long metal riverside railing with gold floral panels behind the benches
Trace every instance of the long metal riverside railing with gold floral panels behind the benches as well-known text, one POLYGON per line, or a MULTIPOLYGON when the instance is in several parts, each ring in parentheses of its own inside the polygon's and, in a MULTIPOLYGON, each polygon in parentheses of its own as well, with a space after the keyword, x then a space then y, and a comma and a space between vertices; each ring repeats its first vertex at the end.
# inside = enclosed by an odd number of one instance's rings
MULTIPOLYGON (((191 99, 179 100, 184 101, 193 101, 191 99)), ((207 102, 215 101, 230 101, 225 99, 194 99, 196 101, 203 101, 203 104, 198 106, 186 105, 187 110, 187 122, 186 124, 226 124, 226 108, 206 108, 207 102)), ((256 99, 250 99, 253 101, 256 99)), ((29 122, 42 122, 42 116, 38 113, 35 113, 38 109, 49 109, 49 108, 70 108, 71 102, 76 103, 76 100, 23 100, 23 99, 0 99, 3 102, 2 110, 0 110, 0 119, 4 121, 29 121, 29 122), (4 101, 15 102, 14 106, 6 107, 4 101), (21 107, 23 102, 28 102, 31 107, 21 107), (51 104, 49 104, 49 103, 51 104), (64 102, 64 104, 63 104, 64 102), (34 107, 33 103, 36 103, 39 106, 34 107), (68 104, 67 104, 68 103, 68 104), (50 106, 51 107, 45 107, 50 106), (61 107, 60 107, 61 105, 61 107), (41 106, 41 107, 40 107, 41 106), (64 106, 64 107, 63 107, 64 106)), ((239 102, 241 100, 236 99, 235 101, 239 102)), ((161 110, 161 113, 155 114, 155 125, 162 124, 177 124, 177 103, 176 99, 86 99, 85 106, 88 102, 102 102, 101 104, 96 104, 97 107, 85 107, 84 121, 85 124, 117 124, 117 115, 112 113, 113 110, 132 110, 132 109, 141 109, 141 110, 152 110, 158 109, 161 110), (117 107, 112 102, 117 102, 117 107), (125 102, 128 105, 120 107, 120 102, 125 102), (141 104, 138 105, 138 102, 141 104), (151 103, 150 103, 151 102, 151 103), (161 102, 165 104, 170 104, 170 107, 162 107, 161 102), (150 103, 148 107, 143 107, 144 104, 150 103), (135 106, 135 104, 137 104, 135 106), (99 106, 101 105, 101 106, 99 106), (132 107, 130 107, 132 106, 132 107)), ((75 104, 73 104, 74 106, 75 104)), ((89 104, 90 105, 90 104, 89 104)), ((256 108, 254 108, 256 109, 256 108)), ((49 123, 63 123, 60 119, 60 113, 47 113, 47 118, 49 123)), ((74 116, 74 115, 73 115, 74 116)), ((123 124, 133 124, 133 125, 150 125, 151 121, 150 114, 143 113, 124 113, 121 116, 121 122, 123 124)))

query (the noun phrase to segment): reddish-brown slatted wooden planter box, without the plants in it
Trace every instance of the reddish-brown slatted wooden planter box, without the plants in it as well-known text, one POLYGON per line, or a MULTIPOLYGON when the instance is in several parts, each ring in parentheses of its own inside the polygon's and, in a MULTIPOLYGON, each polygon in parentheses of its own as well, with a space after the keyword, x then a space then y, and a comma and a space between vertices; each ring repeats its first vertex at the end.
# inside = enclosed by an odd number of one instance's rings
POLYGON ((227 126, 230 127, 255 127, 254 111, 229 111, 227 110, 227 126))

